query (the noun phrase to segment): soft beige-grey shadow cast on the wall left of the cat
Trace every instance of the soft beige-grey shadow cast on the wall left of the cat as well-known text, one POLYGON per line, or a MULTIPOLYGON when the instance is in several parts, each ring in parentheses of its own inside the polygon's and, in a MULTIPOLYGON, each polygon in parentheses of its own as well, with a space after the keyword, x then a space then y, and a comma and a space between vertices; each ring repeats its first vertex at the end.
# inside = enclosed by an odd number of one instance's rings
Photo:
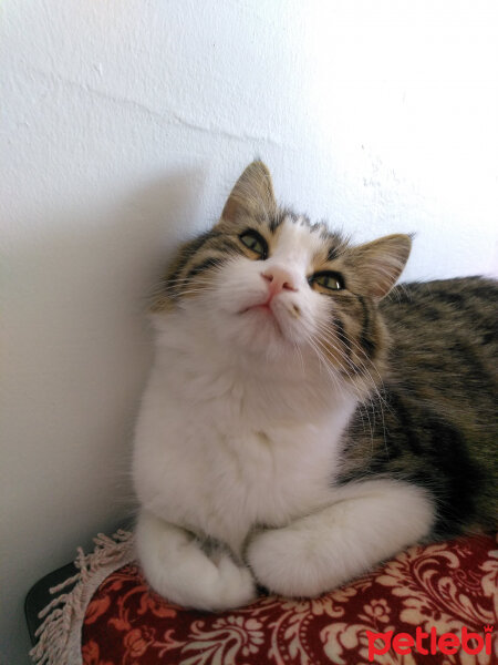
POLYGON ((152 357, 147 296, 196 227, 203 183, 200 172, 178 172, 118 206, 89 201, 85 211, 18 219, 29 233, 8 256, 2 366, 12 633, 35 580, 133 509, 131 439, 152 357))

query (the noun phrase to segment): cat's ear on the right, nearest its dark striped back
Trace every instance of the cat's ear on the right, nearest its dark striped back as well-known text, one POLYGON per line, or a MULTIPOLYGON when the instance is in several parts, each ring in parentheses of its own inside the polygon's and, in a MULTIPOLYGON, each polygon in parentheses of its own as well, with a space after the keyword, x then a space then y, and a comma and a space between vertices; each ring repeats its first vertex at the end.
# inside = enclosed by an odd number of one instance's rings
POLYGON ((412 238, 394 234, 360 245, 351 250, 347 262, 354 272, 354 282, 372 298, 380 300, 395 285, 408 260, 412 238))

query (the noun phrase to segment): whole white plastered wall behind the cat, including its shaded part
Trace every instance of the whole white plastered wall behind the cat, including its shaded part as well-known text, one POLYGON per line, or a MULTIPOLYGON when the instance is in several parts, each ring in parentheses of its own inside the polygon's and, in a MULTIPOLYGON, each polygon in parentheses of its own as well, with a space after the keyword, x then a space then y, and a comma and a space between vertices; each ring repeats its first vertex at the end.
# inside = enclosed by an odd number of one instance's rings
POLYGON ((407 278, 497 273, 496 2, 44 0, 0 7, 1 634, 126 513, 145 296, 255 155, 281 198, 407 278))

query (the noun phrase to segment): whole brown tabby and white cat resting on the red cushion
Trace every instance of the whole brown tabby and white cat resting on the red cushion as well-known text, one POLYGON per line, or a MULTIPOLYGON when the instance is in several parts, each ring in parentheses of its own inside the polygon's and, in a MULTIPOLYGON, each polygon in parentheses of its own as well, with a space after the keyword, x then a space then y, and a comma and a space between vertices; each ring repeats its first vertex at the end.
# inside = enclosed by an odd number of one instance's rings
POLYGON ((498 287, 393 289, 411 244, 353 246, 279 207, 257 161, 181 246, 133 460, 138 559, 170 602, 312 597, 497 528, 498 287))

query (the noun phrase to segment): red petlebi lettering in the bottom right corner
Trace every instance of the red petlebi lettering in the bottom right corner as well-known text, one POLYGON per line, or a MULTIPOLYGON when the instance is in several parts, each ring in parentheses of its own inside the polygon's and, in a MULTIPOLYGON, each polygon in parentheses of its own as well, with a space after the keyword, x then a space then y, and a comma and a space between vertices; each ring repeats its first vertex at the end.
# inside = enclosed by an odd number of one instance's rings
POLYGON ((416 653, 424 656, 430 654, 444 654, 449 656, 456 654, 460 648, 466 654, 477 655, 483 651, 491 654, 491 633, 494 626, 484 626, 484 635, 479 633, 470 633, 464 626, 461 637, 455 633, 443 633, 437 635, 436 628, 432 627, 429 633, 424 633, 421 626, 415 631, 415 637, 409 633, 396 633, 387 631, 386 633, 373 633, 366 631, 369 637, 369 661, 373 661, 375 656, 381 656, 387 653, 391 648, 396 654, 406 655, 415 649, 416 653))

